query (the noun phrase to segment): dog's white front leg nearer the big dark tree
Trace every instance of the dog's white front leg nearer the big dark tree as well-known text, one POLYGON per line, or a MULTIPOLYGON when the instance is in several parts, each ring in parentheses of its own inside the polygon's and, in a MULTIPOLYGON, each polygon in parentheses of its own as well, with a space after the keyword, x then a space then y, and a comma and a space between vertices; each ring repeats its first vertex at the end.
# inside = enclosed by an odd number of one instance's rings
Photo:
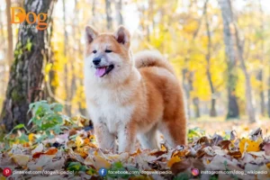
POLYGON ((110 133, 107 126, 103 122, 94 124, 94 134, 99 148, 112 149, 114 151, 115 136, 110 133))

